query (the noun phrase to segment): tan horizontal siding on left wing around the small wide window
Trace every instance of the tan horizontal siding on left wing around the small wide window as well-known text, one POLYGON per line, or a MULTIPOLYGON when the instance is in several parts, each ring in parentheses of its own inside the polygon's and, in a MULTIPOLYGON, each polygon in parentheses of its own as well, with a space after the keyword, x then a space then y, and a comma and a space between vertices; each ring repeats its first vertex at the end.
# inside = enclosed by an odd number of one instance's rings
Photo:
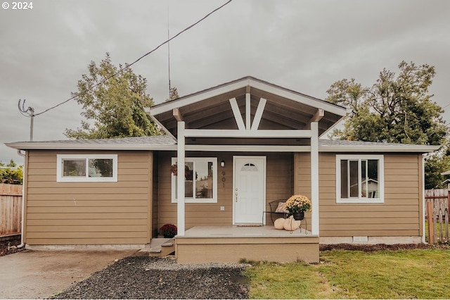
POLYGON ((57 154, 27 151, 25 242, 30 245, 147 244, 153 154, 118 151, 117 182, 56 182, 57 154))

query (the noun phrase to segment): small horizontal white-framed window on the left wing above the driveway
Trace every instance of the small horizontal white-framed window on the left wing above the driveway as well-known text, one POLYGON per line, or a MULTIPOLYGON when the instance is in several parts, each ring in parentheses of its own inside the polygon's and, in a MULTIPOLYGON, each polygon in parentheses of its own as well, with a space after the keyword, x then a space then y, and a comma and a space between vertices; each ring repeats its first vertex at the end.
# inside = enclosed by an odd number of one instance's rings
POLYGON ((117 154, 58 154, 57 182, 117 182, 117 154))

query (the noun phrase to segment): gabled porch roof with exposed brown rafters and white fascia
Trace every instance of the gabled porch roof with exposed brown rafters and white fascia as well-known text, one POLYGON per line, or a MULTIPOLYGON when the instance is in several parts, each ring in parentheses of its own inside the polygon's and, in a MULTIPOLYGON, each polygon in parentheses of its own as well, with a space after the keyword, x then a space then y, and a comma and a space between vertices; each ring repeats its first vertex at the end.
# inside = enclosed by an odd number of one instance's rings
MULTIPOLYGON (((335 125, 346 113, 345 108, 298 92, 272 85, 253 77, 228 82, 218 87, 153 106, 150 115, 176 137, 177 118, 189 129, 238 130, 230 99, 236 99, 239 113, 246 123, 250 108, 250 124, 255 120, 260 99, 266 99, 259 130, 309 130, 319 109, 319 136, 335 125), (250 106, 246 100, 250 94, 250 106)), ((186 141, 188 142, 188 141, 186 141)))

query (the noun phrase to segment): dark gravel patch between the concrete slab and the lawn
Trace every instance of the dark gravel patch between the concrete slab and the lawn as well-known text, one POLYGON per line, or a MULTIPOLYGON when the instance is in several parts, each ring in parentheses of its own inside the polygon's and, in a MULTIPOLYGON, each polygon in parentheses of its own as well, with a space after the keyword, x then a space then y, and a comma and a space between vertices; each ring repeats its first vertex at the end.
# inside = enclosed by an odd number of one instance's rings
POLYGON ((53 299, 248 299, 247 265, 178 265, 174 258, 130 256, 53 299))

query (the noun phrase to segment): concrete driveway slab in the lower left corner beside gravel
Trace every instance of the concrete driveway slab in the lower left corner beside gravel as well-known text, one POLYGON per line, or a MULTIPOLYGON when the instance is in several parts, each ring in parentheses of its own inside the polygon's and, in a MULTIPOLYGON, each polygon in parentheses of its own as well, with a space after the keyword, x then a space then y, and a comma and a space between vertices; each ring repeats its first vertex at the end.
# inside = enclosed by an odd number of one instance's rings
POLYGON ((0 299, 43 299, 136 250, 39 250, 0 257, 0 299))

